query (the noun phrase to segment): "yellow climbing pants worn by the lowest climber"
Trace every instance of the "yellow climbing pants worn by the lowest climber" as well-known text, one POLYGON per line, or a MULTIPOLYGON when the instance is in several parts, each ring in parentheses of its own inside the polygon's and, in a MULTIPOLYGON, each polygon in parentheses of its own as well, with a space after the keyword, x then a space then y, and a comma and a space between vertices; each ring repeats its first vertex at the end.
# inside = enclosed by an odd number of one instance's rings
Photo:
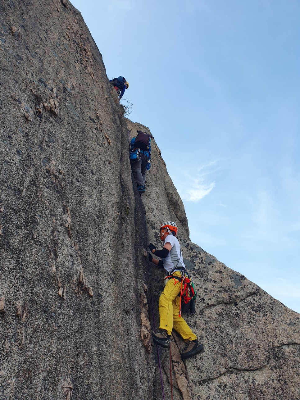
MULTIPOLYGON (((176 271, 172 276, 181 276, 179 271, 176 271)), ((166 283, 164 291, 160 295, 158 302, 160 329, 167 331, 168 335, 172 334, 174 328, 180 336, 188 342, 188 340, 196 340, 197 336, 192 332, 186 321, 179 317, 181 282, 174 279, 169 279, 166 283)))

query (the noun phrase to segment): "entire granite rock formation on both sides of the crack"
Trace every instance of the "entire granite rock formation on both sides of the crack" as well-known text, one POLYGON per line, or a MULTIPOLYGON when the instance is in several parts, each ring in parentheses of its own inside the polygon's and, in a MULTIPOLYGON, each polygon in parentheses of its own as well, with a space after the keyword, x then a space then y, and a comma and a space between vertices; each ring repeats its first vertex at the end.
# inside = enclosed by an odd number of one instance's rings
POLYGON ((155 140, 140 198, 128 133, 148 128, 124 118, 80 13, 1 0, 0 20, 0 398, 162 398, 147 244, 171 219, 204 344, 183 362, 174 333, 174 399, 299 399, 299 314, 190 242, 155 140))

